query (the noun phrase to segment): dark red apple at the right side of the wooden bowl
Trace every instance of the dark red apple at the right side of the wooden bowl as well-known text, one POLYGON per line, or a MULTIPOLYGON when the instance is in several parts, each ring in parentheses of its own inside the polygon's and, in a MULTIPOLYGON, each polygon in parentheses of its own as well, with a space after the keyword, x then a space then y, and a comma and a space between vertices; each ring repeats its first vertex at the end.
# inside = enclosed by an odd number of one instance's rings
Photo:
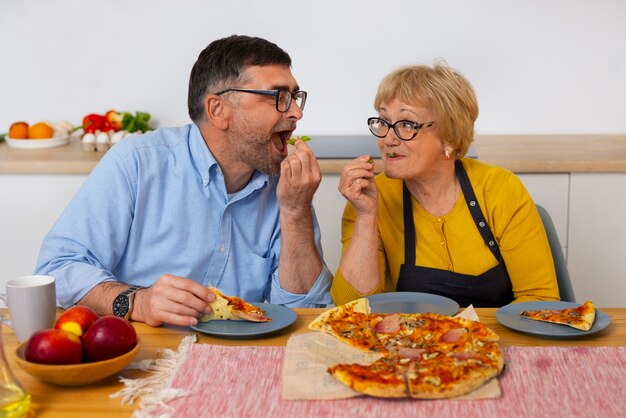
POLYGON ((130 322, 119 316, 103 316, 83 335, 87 361, 121 356, 137 344, 137 333, 130 322))

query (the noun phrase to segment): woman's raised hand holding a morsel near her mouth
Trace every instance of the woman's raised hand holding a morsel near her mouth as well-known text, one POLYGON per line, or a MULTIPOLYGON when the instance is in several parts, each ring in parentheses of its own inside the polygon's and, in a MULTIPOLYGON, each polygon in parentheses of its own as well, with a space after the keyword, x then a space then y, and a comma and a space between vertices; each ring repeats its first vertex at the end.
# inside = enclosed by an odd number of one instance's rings
POLYGON ((378 189, 374 182, 374 161, 369 155, 355 158, 341 170, 339 192, 354 206, 357 215, 376 212, 378 189))

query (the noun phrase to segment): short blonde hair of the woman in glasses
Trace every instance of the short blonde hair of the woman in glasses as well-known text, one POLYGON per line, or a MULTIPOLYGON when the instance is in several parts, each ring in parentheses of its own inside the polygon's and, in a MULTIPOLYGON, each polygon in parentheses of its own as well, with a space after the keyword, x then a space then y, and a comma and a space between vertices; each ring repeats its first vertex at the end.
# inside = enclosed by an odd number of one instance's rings
MULTIPOLYGON (((388 74, 378 86, 374 107, 398 99, 406 104, 428 107, 435 115, 437 132, 452 156, 464 156, 474 141, 478 101, 472 85, 445 61, 408 65, 388 74)), ((429 122, 429 121, 418 121, 429 122)))

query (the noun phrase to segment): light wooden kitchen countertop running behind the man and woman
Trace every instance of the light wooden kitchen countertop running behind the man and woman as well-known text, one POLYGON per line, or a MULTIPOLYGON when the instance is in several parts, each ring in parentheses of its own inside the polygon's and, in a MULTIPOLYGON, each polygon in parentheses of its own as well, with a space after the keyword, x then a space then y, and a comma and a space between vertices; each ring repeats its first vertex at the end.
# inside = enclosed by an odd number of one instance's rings
MULTIPOLYGON (((481 161, 516 173, 626 172, 626 134, 481 135, 474 148, 481 161)), ((102 155, 83 151, 76 139, 62 147, 28 150, 0 143, 0 174, 87 174, 102 155)), ((337 174, 348 161, 324 158, 319 163, 324 174, 337 174)), ((382 169, 379 160, 376 169, 382 169)))

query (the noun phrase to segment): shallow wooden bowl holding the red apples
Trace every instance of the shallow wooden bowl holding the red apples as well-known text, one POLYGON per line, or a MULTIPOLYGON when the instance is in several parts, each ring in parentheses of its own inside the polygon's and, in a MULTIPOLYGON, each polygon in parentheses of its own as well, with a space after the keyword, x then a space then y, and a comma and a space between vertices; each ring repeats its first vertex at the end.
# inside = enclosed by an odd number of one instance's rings
POLYGON ((26 360, 27 341, 20 344, 15 350, 15 360, 24 371, 44 382, 54 383, 61 386, 81 386, 97 382, 106 377, 112 376, 126 366, 135 358, 139 351, 139 339, 137 345, 126 354, 108 360, 96 361, 92 363, 51 365, 39 364, 26 360))

